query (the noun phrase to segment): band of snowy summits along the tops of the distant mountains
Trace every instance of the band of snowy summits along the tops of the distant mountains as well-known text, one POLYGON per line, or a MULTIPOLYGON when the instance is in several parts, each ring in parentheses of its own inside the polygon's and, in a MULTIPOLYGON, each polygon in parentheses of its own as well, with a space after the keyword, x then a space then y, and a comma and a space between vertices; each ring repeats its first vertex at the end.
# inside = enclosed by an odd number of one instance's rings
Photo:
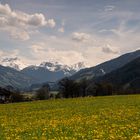
POLYGON ((44 68, 51 72, 63 71, 64 75, 66 76, 70 76, 74 74, 75 72, 85 68, 84 62, 79 62, 79 63, 68 66, 66 64, 62 64, 62 63, 59 63, 57 61, 52 61, 52 60, 42 62, 40 65, 31 65, 27 67, 27 65, 24 64, 18 57, 3 58, 2 60, 0 60, 0 64, 2 66, 11 67, 18 71, 24 68, 28 68, 32 70, 38 70, 39 68, 44 68))

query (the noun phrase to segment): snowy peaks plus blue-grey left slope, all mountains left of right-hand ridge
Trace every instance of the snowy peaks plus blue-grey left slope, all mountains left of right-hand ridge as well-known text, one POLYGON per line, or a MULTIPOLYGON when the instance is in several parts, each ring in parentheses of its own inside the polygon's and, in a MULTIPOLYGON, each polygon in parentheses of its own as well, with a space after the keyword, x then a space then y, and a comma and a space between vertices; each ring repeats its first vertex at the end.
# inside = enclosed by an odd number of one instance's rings
POLYGON ((0 86, 11 85, 20 89, 36 83, 55 82, 85 68, 83 62, 68 66, 55 61, 42 62, 38 66, 26 66, 17 57, 4 58, 0 64, 3 65, 0 67, 0 86))

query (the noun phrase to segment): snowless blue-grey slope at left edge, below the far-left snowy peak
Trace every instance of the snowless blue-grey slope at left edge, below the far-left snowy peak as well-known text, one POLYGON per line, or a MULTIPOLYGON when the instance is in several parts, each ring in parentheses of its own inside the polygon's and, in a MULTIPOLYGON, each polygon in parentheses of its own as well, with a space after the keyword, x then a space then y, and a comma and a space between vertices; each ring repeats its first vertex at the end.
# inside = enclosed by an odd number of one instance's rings
POLYGON ((0 65, 0 86, 13 86, 14 88, 23 89, 35 83, 36 80, 26 76, 25 74, 14 70, 10 67, 4 67, 0 65))

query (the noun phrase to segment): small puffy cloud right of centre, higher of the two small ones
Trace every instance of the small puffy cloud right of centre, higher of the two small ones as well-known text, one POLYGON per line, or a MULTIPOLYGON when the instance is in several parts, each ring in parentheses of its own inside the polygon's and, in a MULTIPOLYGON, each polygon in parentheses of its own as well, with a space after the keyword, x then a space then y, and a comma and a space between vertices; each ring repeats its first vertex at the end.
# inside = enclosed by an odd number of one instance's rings
POLYGON ((90 35, 87 33, 74 32, 72 35, 72 39, 78 42, 86 42, 90 39, 90 35))

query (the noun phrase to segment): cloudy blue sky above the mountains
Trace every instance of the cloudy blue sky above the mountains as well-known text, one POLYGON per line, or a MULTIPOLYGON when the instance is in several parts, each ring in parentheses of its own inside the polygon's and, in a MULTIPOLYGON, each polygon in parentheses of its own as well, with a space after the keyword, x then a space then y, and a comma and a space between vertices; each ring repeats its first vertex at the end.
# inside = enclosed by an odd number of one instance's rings
POLYGON ((94 66, 140 48, 139 0, 1 0, 0 56, 94 66))

